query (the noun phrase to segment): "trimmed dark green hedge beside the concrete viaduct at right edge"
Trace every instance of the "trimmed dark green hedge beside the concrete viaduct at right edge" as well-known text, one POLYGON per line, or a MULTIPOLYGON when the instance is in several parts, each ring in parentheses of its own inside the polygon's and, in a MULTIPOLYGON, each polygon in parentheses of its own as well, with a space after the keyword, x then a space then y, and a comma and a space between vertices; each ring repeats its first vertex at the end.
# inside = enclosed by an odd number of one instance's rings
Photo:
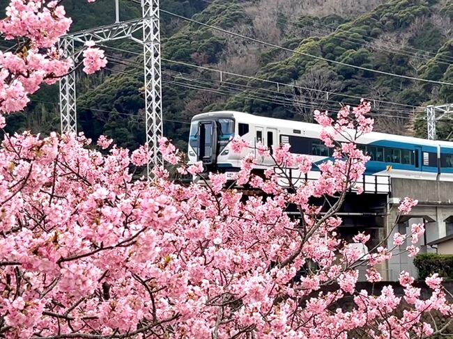
POLYGON ((424 279, 431 274, 438 273, 445 279, 453 280, 453 255, 424 253, 417 255, 414 265, 418 269, 418 276, 424 279))

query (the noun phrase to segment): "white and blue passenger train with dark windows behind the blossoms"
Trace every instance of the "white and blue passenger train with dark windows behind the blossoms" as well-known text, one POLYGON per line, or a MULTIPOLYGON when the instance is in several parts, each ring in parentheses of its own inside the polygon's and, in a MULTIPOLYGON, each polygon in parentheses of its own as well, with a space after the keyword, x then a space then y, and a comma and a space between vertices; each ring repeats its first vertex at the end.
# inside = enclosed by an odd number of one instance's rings
MULTIPOLYGON (((189 164, 203 161, 206 173, 226 173, 227 178, 235 178, 241 160, 250 152, 231 150, 229 143, 235 136, 250 145, 261 142, 271 152, 278 145, 289 143, 292 153, 310 155, 314 164, 318 164, 330 159, 333 152, 319 138, 321 129, 321 125, 314 123, 238 111, 200 113, 192 118, 190 125, 189 164)), ((357 143, 370 157, 365 175, 453 181, 453 142, 371 132, 360 136, 357 143)), ((274 164, 271 157, 256 156, 256 171, 274 164)), ((316 172, 316 166, 312 171, 316 172)))

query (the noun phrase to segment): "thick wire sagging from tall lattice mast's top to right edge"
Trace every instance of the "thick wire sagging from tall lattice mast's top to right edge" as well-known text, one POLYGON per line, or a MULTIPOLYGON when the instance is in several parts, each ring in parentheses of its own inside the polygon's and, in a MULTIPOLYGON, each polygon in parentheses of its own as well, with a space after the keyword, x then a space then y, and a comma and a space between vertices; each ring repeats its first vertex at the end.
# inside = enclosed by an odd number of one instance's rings
POLYGON ((194 19, 189 19, 188 17, 183 17, 182 15, 171 13, 171 12, 169 12, 167 10, 160 9, 160 12, 165 13, 167 15, 172 15, 174 17, 178 17, 178 18, 183 19, 183 20, 187 20, 188 22, 192 22, 194 24, 199 24, 201 26, 208 27, 209 29, 214 29, 215 31, 220 31, 222 33, 229 34, 231 36, 236 36, 236 38, 242 38, 242 39, 253 41, 253 42, 256 42, 256 43, 259 43, 259 44, 262 44, 262 45, 266 45, 266 46, 269 46, 269 47, 282 49, 282 50, 284 50, 286 52, 291 52, 293 54, 299 54, 299 55, 302 55, 302 56, 308 56, 310 58, 315 58, 315 59, 326 61, 326 62, 329 62, 329 63, 335 63, 337 65, 343 65, 343 66, 350 67, 350 68, 355 68, 355 69, 358 69, 358 70, 366 70, 367 72, 374 72, 374 73, 377 73, 377 74, 383 74, 383 75, 387 75, 387 76, 390 76, 390 77, 399 77, 399 78, 402 78, 402 79, 408 79, 408 80, 414 80, 414 81, 422 81, 422 82, 427 82, 427 83, 430 83, 430 84, 453 86, 453 84, 450 83, 450 82, 435 81, 435 80, 429 80, 429 79, 421 79, 421 78, 417 78, 417 77, 409 77, 407 75, 394 74, 394 73, 390 73, 390 72, 384 72, 384 71, 381 71, 381 70, 373 70, 371 68, 365 68, 365 67, 362 67, 362 66, 351 65, 351 64, 348 64, 348 63, 343 63, 341 61, 335 61, 335 60, 331 60, 331 59, 328 59, 328 58, 323 58, 322 56, 315 56, 315 55, 308 54, 308 53, 305 53, 305 52, 300 52, 300 51, 297 51, 297 50, 294 50, 294 49, 290 49, 290 48, 282 47, 282 46, 279 46, 279 45, 275 45, 275 44, 272 44, 270 42, 265 42, 265 41, 261 41, 261 40, 255 39, 255 38, 251 38, 249 36, 243 36, 242 34, 234 33, 234 32, 231 32, 231 31, 227 31, 226 29, 221 29, 220 27, 212 26, 210 24, 204 24, 203 22, 199 22, 199 21, 194 20, 194 19))

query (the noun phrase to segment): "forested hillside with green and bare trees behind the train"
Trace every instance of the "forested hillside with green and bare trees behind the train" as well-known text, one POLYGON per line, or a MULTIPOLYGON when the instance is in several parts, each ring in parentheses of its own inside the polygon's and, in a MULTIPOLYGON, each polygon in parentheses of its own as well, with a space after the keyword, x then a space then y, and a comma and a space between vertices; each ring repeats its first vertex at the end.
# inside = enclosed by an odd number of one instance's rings
MULTIPOLYGON (((121 19, 140 15, 137 3, 121 1, 121 19)), ((63 3, 72 31, 114 21, 113 0, 63 3)), ((211 26, 162 13, 164 133, 182 148, 190 118, 213 109, 309 121, 316 108, 336 111, 366 97, 378 130, 424 136, 422 107, 453 102, 452 86, 407 79, 453 82, 453 0, 162 0, 161 7, 211 26)), ((104 48, 107 69, 79 76, 80 130, 135 148, 144 143, 141 47, 125 40, 104 48)), ((9 118, 10 131, 58 129, 57 90, 40 90, 28 112, 9 118)), ((452 137, 450 125, 440 123, 440 138, 452 137)))

